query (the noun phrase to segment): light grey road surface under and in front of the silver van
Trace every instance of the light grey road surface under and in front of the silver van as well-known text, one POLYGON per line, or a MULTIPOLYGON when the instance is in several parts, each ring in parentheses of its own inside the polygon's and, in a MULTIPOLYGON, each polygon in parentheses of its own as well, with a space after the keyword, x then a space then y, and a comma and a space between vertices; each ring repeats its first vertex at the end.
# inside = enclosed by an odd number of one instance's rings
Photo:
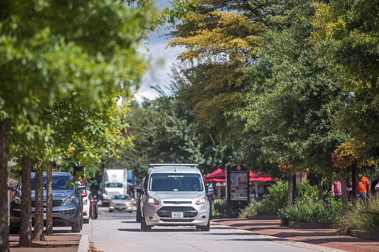
MULTIPOLYGON (((104 252, 220 252, 280 251, 311 252, 314 250, 268 241, 231 229, 211 226, 209 232, 195 227, 153 227, 142 232, 135 221, 136 212, 108 212, 100 207, 98 220, 84 224, 82 234, 104 252)), ((70 233, 68 228, 54 228, 54 233, 70 233)))

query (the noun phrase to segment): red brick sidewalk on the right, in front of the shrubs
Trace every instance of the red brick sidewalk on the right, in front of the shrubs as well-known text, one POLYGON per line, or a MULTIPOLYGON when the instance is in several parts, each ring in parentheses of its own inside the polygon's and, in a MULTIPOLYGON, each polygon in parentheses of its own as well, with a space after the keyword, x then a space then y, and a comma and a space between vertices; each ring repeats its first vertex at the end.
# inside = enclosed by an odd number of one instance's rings
POLYGON ((218 225, 251 231, 252 235, 270 235, 284 240, 292 240, 340 249, 351 252, 379 251, 379 241, 353 236, 339 236, 334 229, 296 229, 280 227, 279 220, 219 219, 212 220, 218 225))

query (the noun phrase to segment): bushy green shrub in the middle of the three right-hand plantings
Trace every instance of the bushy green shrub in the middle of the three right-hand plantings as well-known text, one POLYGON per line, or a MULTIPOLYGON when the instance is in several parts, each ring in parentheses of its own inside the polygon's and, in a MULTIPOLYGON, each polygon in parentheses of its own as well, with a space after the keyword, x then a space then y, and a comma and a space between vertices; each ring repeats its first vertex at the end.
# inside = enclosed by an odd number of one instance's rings
POLYGON ((331 195, 325 202, 318 199, 317 186, 308 182, 298 184, 295 204, 287 204, 278 210, 281 226, 288 226, 289 221, 308 223, 335 223, 341 217, 342 204, 331 195))

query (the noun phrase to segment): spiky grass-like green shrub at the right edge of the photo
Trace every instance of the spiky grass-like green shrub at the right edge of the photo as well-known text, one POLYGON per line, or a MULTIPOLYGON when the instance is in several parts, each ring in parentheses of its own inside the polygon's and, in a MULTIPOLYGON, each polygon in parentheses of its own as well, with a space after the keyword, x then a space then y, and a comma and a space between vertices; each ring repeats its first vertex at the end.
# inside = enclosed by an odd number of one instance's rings
POLYGON ((349 207, 348 213, 336 224, 337 233, 344 235, 349 230, 379 232, 379 198, 370 197, 357 201, 349 207))

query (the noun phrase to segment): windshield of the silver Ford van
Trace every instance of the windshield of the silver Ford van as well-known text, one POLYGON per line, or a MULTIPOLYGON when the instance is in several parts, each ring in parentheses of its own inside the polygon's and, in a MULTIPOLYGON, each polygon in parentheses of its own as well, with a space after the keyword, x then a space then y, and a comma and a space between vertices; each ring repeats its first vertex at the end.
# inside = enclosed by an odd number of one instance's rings
POLYGON ((150 176, 149 191, 153 192, 201 192, 200 174, 155 173, 150 176))

